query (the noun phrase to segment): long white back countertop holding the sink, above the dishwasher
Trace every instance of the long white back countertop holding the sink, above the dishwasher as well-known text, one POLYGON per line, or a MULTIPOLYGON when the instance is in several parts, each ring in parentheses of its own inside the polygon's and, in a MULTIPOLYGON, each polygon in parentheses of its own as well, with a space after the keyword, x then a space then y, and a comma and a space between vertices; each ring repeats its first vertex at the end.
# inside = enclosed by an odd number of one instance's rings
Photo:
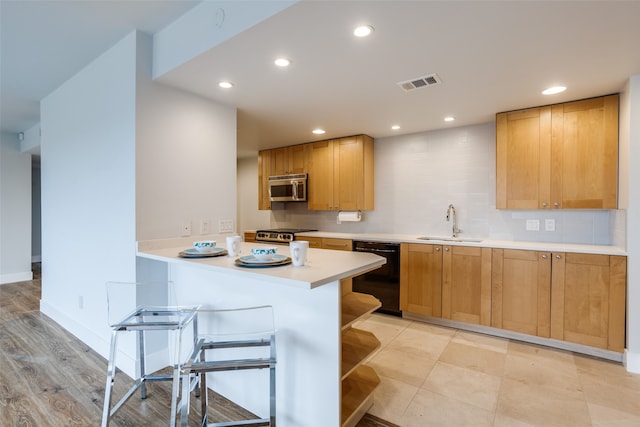
MULTIPOLYGON (((609 245, 582 245, 575 243, 549 243, 549 242, 516 242, 510 240, 481 240, 480 242, 446 241, 446 240, 420 240, 419 234, 365 234, 365 233, 331 233, 324 231, 312 231, 296 233, 298 237, 330 237, 337 239, 363 240, 371 242, 391 243, 423 243, 458 246, 477 246, 502 249, 524 249, 549 252, 578 252, 602 255, 626 255, 623 248, 609 245)), ((461 237, 464 239, 464 236, 461 237)))

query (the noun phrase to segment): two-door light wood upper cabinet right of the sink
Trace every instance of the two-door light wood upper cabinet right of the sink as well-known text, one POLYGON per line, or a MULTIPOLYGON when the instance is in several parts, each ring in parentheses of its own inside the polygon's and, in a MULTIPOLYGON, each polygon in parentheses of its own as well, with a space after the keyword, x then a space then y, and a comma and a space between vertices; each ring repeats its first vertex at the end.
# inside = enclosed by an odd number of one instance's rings
POLYGON ((615 209, 618 95, 496 115, 498 209, 615 209))

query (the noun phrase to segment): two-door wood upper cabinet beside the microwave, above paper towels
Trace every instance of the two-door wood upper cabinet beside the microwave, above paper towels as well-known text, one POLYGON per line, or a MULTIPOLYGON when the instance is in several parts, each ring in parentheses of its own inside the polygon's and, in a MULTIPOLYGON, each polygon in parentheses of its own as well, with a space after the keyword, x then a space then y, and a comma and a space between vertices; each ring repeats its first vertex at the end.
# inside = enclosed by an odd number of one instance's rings
POLYGON ((309 210, 373 209, 373 139, 357 135, 310 146, 309 210))

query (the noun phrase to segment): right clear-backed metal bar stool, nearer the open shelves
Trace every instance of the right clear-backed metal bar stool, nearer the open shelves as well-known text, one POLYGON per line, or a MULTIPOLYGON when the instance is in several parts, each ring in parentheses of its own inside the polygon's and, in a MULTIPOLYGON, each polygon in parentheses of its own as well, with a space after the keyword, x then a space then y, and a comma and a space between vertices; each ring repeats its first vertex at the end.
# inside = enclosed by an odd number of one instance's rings
MULTIPOLYGON (((271 306, 199 308, 198 337, 182 364, 181 426, 189 417, 189 376, 200 376, 201 426, 276 425, 276 334, 271 306), (269 415, 250 420, 207 422, 207 373, 269 369, 269 415)), ((252 383, 252 387, 253 387, 252 383)), ((215 387, 212 387, 215 389, 215 387)))

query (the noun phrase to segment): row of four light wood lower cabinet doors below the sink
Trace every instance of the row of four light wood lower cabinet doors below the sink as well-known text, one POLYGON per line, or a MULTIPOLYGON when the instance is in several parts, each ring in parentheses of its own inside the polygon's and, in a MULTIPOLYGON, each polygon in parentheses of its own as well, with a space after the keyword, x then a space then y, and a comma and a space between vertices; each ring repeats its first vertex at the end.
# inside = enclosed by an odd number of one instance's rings
POLYGON ((622 352, 625 256, 402 244, 406 313, 622 352))

